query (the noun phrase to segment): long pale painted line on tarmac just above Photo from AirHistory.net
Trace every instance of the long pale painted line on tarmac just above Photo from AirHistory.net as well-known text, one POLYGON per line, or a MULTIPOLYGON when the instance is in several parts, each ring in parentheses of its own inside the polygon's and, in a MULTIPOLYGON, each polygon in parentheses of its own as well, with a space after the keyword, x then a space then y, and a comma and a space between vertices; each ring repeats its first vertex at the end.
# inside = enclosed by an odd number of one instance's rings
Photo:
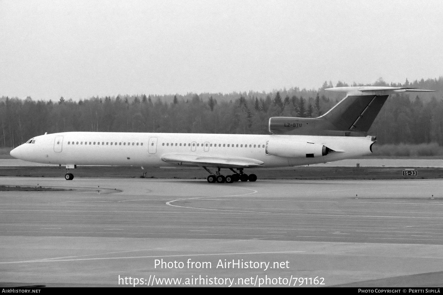
MULTIPOLYGON (((136 250, 139 251, 139 250, 136 250)), ((128 251, 130 252, 130 251, 128 251)), ((25 261, 1 261, 0 264, 12 263, 31 263, 31 262, 61 262, 61 261, 88 261, 88 260, 113 260, 113 259, 139 259, 139 258, 155 258, 155 257, 183 257, 183 256, 215 256, 215 255, 253 255, 253 254, 281 254, 281 253, 305 253, 306 251, 279 251, 279 252, 240 252, 240 253, 209 253, 209 254, 180 254, 180 255, 155 255, 155 256, 128 256, 128 257, 100 257, 100 258, 76 258, 76 259, 58 259, 46 258, 39 260, 25 261)), ((118 253, 118 252, 117 252, 118 253)), ((91 254, 97 255, 97 254, 91 254)), ((74 256, 76 257, 76 256, 74 256)), ((81 256, 80 256, 81 257, 81 256)))

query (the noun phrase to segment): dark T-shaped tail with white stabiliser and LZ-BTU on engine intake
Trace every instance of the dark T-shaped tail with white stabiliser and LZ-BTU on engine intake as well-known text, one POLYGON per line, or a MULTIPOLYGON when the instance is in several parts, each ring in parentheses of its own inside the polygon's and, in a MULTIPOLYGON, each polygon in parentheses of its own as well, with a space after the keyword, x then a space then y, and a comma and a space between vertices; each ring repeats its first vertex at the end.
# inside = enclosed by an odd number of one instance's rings
POLYGON ((335 87, 328 91, 346 92, 346 97, 317 118, 272 117, 272 134, 367 136, 368 130, 388 99, 399 92, 431 92, 408 87, 335 87))

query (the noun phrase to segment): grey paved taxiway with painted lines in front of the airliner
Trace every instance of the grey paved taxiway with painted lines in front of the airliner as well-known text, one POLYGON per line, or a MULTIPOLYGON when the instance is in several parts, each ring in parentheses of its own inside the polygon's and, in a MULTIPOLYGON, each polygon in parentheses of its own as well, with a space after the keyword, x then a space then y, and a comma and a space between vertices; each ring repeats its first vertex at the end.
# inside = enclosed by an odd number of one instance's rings
POLYGON ((442 282, 443 180, 3 177, 0 185, 74 189, 0 192, 3 286, 119 286, 119 276, 154 275, 236 283, 323 277, 324 286, 360 287, 442 282), (155 267, 161 259, 212 267, 155 267), (288 267, 216 268, 225 259, 288 267))

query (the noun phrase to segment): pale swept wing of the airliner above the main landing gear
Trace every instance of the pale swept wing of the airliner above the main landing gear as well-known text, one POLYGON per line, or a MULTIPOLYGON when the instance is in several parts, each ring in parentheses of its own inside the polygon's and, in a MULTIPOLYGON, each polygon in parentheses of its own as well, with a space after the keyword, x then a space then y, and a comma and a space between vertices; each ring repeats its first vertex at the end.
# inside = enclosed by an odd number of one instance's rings
POLYGON ((167 154, 161 157, 167 163, 184 166, 219 167, 219 168, 249 168, 264 164, 263 161, 240 157, 205 157, 199 155, 167 154))

